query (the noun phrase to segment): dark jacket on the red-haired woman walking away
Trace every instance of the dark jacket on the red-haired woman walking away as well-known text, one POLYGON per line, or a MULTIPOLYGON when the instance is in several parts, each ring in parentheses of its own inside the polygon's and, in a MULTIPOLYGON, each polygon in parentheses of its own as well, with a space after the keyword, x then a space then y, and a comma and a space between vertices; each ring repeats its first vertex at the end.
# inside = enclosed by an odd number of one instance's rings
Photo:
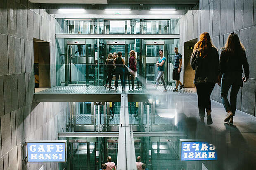
POLYGON ((217 83, 220 73, 219 55, 216 48, 211 47, 208 54, 199 56, 199 50, 191 55, 190 65, 194 72, 194 84, 217 83))

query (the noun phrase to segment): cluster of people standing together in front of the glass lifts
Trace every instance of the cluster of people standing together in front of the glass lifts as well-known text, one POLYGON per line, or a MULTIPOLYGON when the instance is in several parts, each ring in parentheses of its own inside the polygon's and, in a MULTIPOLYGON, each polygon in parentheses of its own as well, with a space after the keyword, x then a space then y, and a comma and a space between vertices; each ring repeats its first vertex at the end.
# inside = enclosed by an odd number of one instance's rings
MULTIPOLYGON (((115 90, 117 90, 118 87, 118 80, 119 77, 121 79, 121 85, 122 90, 125 90, 124 84, 125 84, 125 77, 128 77, 129 82, 129 89, 130 89, 130 77, 131 77, 131 86, 132 90, 134 90, 134 78, 137 78, 137 62, 136 62, 136 54, 135 51, 130 51, 130 59, 129 59, 129 67, 127 68, 125 65, 125 60, 122 58, 122 52, 116 53, 109 53, 107 60, 106 60, 106 66, 107 66, 107 80, 105 83, 105 87, 109 89, 114 89, 111 87, 111 82, 114 77, 115 79, 115 90), (107 83, 109 83, 109 86, 107 86, 107 83)), ((137 87, 140 88, 140 81, 137 79, 137 87)))

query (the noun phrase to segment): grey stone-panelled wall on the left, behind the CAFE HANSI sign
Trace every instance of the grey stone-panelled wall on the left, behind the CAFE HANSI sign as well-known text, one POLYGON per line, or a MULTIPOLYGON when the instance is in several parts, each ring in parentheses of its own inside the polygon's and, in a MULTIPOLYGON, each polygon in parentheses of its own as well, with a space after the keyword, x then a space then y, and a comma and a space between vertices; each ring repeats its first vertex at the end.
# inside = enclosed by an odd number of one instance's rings
MULTIPOLYGON (((0 0, 0 170, 21 170, 24 142, 56 140, 65 127, 67 103, 33 102, 33 38, 50 42, 55 86, 55 18, 27 0, 0 0)), ((28 163, 28 169, 41 165, 28 163)), ((45 164, 46 169, 57 167, 45 164)))

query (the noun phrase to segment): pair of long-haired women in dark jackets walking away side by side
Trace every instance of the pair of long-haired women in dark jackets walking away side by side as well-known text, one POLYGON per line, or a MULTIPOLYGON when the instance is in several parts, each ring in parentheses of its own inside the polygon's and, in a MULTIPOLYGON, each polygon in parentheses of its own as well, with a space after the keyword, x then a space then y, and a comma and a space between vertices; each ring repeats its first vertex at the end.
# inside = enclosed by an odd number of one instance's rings
POLYGON ((226 44, 221 48, 220 59, 216 47, 211 42, 208 32, 200 34, 199 41, 194 45, 190 59, 195 70, 194 84, 197 89, 198 109, 201 122, 204 122, 205 111, 207 124, 212 124, 210 95, 216 83, 221 86, 221 100, 227 112, 224 122, 233 124, 237 105, 237 93, 243 82, 249 78, 249 64, 245 48, 237 34, 230 34, 226 44), (242 77, 243 69, 245 76, 242 77), (230 102, 228 91, 230 91, 230 102))

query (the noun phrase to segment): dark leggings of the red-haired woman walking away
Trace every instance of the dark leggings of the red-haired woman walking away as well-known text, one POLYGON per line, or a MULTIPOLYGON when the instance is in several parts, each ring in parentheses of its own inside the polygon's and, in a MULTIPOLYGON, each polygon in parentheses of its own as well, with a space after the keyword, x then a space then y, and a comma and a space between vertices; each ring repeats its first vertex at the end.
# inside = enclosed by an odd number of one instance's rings
POLYGON ((204 118, 204 110, 210 110, 211 111, 211 92, 213 91, 213 88, 215 86, 215 83, 199 83, 196 84, 197 88, 197 98, 198 98, 198 110, 199 110, 199 116, 201 119, 204 118))

